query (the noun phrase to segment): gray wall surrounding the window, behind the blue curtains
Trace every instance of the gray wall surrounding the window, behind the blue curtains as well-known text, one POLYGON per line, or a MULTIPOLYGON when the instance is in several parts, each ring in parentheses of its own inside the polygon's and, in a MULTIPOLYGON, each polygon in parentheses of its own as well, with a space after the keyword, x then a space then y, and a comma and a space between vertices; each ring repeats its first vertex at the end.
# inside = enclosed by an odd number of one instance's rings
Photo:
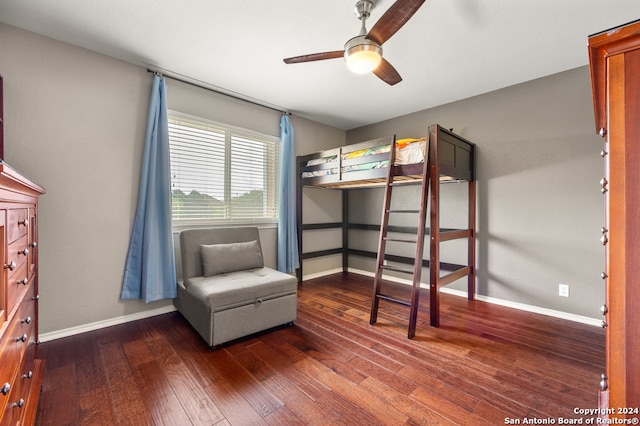
MULTIPOLYGON (((0 24, 5 161, 44 186, 40 332, 169 307, 119 300, 135 212, 152 75, 0 24)), ((269 134, 280 114, 168 80, 169 108, 269 134)), ((339 146, 342 130, 292 118, 300 153, 339 146)), ((276 231, 261 229, 265 252, 276 231)), ((275 264, 275 255, 267 257, 275 264)))

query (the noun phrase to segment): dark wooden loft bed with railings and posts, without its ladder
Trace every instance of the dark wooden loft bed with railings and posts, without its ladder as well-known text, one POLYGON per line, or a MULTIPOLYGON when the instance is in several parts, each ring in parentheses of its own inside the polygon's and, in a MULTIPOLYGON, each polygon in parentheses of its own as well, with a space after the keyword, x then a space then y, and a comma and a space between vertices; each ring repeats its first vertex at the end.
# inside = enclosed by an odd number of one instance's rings
MULTIPOLYGON (((297 157, 297 222, 298 252, 300 268, 297 270, 298 281, 303 279, 304 260, 341 254, 342 270, 347 272, 349 255, 375 259, 377 253, 349 248, 349 230, 364 229, 379 231, 379 225, 349 223, 349 189, 366 187, 384 187, 388 175, 390 148, 394 146, 395 137, 386 137, 346 145, 339 148, 315 152, 297 157), (386 148, 385 148, 386 147, 386 148), (361 155, 364 154, 364 155, 361 155), (342 221, 331 223, 303 223, 302 192, 304 187, 342 190, 342 221), (304 231, 322 229, 341 229, 342 247, 302 252, 304 231)), ((421 140, 416 144, 424 144, 423 154, 419 162, 394 164, 395 182, 402 184, 421 184, 424 172, 423 162, 430 161, 431 201, 429 228, 430 235, 429 260, 423 260, 423 267, 430 269, 430 316, 431 325, 439 325, 439 288, 467 276, 467 295, 469 300, 475 297, 475 223, 476 223, 476 185, 475 185, 475 144, 454 134, 450 130, 434 124, 429 126, 428 142, 421 140), (428 147, 428 149, 427 149, 428 147), (439 184, 445 182, 468 182, 468 227, 467 229, 440 228, 440 190, 439 184), (457 265, 440 262, 440 242, 466 238, 467 264, 457 265), (434 265, 434 267, 431 267, 434 265), (449 274, 441 276, 441 271, 449 274)), ((395 141, 400 144, 402 141, 395 141)), ((413 144, 411 144, 413 145, 413 144)), ((396 151, 396 155, 399 151, 396 151)), ((415 161, 411 156, 409 161, 415 161)), ((426 190, 426 188, 425 188, 426 190)), ((390 232, 416 234, 416 227, 389 226, 390 232)), ((391 262, 413 264, 414 259, 386 254, 385 259, 391 262)))

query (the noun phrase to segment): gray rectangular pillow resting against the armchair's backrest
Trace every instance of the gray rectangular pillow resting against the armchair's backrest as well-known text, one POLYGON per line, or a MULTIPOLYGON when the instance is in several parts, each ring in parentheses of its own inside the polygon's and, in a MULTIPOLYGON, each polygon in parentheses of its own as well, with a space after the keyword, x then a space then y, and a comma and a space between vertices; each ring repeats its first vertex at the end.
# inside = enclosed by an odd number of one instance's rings
POLYGON ((230 244, 202 244, 200 256, 205 277, 264 266, 256 240, 230 244))

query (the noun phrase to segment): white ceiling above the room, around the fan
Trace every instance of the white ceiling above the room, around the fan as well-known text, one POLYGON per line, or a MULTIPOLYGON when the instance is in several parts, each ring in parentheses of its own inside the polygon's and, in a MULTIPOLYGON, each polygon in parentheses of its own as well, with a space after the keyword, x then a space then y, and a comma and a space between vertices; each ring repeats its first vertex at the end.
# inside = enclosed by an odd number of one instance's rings
POLYGON ((282 62, 343 49, 355 2, 2 0, 0 21, 346 130, 586 65, 590 34, 640 18, 640 0, 427 0, 383 46, 395 86, 282 62))

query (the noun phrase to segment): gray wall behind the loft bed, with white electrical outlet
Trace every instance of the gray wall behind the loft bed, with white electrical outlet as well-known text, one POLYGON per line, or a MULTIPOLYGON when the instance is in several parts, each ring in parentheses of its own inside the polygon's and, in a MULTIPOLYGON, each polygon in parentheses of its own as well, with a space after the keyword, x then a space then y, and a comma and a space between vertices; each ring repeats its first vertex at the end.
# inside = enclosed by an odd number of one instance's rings
MULTIPOLYGON (((597 318, 604 301, 603 162, 588 67, 354 129, 347 143, 424 136, 434 123, 477 144, 478 293, 597 318), (558 296, 559 283, 570 285, 570 298, 558 296)), ((464 226, 465 188, 442 189, 442 225, 464 226)), ((375 191, 354 191, 351 220, 379 223, 382 192, 375 191)), ((364 238, 354 244, 375 251, 375 236, 364 238)), ((464 247, 447 244, 442 261, 464 261, 464 247)), ((350 266, 374 268, 362 259, 350 266)))

